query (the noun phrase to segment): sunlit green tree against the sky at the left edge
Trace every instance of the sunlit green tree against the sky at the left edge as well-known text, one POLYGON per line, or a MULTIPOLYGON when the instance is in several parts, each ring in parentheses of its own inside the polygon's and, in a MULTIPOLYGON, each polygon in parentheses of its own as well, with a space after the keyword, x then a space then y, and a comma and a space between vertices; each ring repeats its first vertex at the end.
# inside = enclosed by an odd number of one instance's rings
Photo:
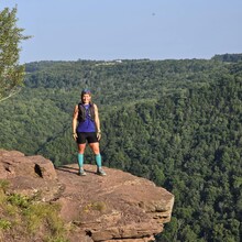
POLYGON ((16 8, 0 11, 0 101, 18 92, 24 79, 24 65, 19 65, 19 44, 30 36, 16 26, 16 8))

